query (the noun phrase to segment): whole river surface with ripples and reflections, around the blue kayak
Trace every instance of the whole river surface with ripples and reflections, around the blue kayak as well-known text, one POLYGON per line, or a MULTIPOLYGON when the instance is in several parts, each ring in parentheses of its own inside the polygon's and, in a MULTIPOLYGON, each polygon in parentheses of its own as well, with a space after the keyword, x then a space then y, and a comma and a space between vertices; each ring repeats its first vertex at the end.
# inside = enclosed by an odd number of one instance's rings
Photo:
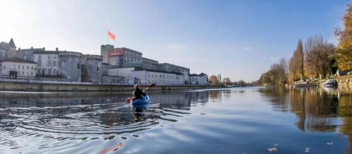
POLYGON ((0 153, 352 153, 352 94, 324 89, 0 92, 0 153), (309 148, 309 149, 306 149, 309 148))

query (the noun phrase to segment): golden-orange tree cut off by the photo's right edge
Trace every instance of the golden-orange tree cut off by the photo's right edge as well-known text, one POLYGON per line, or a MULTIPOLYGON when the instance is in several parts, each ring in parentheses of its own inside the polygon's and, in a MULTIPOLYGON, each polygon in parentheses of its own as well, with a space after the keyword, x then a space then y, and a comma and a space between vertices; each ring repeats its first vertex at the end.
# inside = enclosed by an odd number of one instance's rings
POLYGON ((337 64, 341 70, 352 69, 352 4, 347 4, 344 20, 344 30, 335 29, 335 35, 339 37, 336 56, 337 64))

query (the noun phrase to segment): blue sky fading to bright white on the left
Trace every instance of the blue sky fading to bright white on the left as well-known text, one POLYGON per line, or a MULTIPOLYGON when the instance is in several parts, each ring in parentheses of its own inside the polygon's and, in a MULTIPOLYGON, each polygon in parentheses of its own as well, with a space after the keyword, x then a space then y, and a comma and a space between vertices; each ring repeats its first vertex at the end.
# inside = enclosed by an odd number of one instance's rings
POLYGON ((289 58, 299 38, 322 34, 336 44, 334 27, 348 2, 2 0, 0 41, 100 54, 109 29, 117 37, 110 44, 146 58, 250 82, 289 58))

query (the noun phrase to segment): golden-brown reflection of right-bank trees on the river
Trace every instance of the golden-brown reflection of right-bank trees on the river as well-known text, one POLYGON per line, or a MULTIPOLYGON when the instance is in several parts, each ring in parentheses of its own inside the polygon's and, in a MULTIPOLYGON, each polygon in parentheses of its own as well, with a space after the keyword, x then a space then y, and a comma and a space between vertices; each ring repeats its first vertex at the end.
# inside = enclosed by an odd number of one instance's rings
POLYGON ((349 140, 352 153, 352 90, 339 89, 260 89, 272 108, 294 113, 301 131, 340 132, 349 140))

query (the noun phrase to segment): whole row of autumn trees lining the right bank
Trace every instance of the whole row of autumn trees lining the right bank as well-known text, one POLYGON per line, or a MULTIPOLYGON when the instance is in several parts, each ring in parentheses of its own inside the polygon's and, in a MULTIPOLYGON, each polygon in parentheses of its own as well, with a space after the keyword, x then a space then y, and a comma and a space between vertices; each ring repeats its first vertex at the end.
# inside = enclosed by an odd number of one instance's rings
POLYGON ((289 60, 282 58, 271 65, 258 80, 259 84, 276 86, 284 81, 296 82, 303 79, 325 78, 337 73, 337 70, 352 69, 352 4, 347 4, 343 15, 344 30, 335 28, 337 46, 325 41, 322 35, 308 37, 303 44, 298 39, 293 56, 289 60))

